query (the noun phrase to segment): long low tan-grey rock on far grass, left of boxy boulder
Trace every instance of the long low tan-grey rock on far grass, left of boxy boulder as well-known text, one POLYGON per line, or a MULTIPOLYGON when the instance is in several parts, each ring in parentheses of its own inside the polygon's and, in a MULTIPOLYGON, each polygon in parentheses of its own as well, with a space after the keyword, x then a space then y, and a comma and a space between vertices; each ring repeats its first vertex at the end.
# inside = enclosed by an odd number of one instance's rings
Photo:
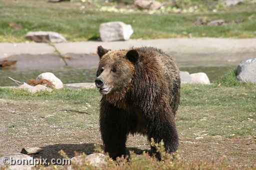
POLYGON ((51 32, 51 31, 36 31, 36 32, 28 32, 25 35, 25 38, 33 40, 35 42, 52 42, 52 43, 58 43, 58 42, 65 42, 66 39, 60 35, 57 32, 51 32))

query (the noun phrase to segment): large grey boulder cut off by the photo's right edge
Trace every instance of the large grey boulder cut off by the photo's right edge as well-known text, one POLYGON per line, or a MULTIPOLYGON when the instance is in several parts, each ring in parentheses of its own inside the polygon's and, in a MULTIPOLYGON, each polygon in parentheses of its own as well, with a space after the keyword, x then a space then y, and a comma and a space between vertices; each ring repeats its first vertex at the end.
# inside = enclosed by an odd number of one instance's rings
POLYGON ((238 81, 256 83, 256 58, 241 61, 237 66, 238 81))

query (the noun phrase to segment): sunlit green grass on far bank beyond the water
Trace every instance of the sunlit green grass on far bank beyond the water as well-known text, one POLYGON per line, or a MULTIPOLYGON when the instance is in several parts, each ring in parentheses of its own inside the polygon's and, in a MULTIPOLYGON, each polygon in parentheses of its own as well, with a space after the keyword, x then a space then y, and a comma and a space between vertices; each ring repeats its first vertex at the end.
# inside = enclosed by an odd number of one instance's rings
POLYGON ((120 14, 100 12, 98 8, 81 9, 81 6, 78 1, 0 0, 0 42, 22 42, 25 41, 25 33, 37 30, 59 32, 68 41, 95 40, 99 38, 100 23, 116 20, 132 25, 133 39, 188 37, 188 34, 193 37, 256 37, 255 3, 220 8, 217 12, 162 14, 120 14), (201 17, 224 19, 226 23, 221 26, 196 26, 194 22, 201 17), (21 24, 23 28, 15 30, 9 26, 10 22, 21 24))

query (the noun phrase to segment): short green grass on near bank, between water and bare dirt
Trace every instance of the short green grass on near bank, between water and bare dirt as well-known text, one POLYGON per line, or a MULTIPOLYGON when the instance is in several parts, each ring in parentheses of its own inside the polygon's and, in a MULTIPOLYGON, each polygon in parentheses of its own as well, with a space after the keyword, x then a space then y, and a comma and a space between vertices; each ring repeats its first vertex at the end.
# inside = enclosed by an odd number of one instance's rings
MULTIPOLYGON (((61 104, 66 105, 67 108, 81 108, 84 103, 90 103, 91 108, 94 109, 89 109, 88 112, 95 116, 98 114, 100 95, 94 89, 61 89, 54 90, 52 93, 42 92, 31 95, 24 90, 0 88, 0 98, 28 101, 47 100, 56 105, 59 105, 59 101, 61 101, 61 104)), ((232 137, 232 134, 256 136, 255 100, 254 85, 232 87, 217 86, 216 84, 182 85, 177 126, 182 127, 184 131, 189 127, 205 131, 210 136, 232 137)), ((95 118, 94 116, 92 119, 95 118)), ((52 122, 59 117, 55 117, 52 122)))

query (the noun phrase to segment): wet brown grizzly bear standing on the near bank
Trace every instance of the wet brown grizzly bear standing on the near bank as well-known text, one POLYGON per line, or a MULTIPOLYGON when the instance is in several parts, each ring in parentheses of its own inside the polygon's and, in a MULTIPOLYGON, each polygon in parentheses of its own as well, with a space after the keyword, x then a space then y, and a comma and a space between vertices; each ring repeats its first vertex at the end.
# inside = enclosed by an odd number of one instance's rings
MULTIPOLYGON (((95 85, 100 100, 100 133, 112 159, 125 155, 128 134, 178 148, 175 114, 179 105, 179 70, 171 56, 153 47, 111 51, 98 46, 95 85)), ((156 153, 156 149, 151 147, 156 153)))

